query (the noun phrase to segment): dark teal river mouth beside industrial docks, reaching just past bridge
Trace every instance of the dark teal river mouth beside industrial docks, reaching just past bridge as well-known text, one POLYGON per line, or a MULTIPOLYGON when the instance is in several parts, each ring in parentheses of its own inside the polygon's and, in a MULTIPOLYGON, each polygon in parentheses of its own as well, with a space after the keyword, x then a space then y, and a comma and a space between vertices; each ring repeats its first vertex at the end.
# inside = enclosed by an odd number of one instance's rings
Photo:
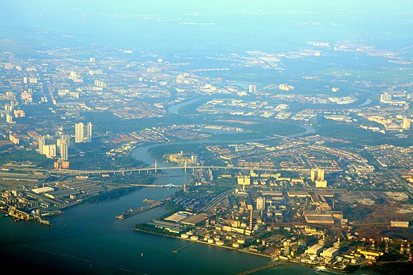
MULTIPOLYGON (((147 150, 160 145, 136 148, 134 157, 153 164, 147 150)), ((182 171, 165 170, 165 173, 155 184, 182 184, 182 171)), ((165 214, 165 208, 154 208, 125 220, 115 218, 129 208, 145 205, 143 199, 162 199, 174 191, 174 188, 141 188, 120 199, 85 203, 51 217, 52 226, 36 221, 14 222, 3 217, 0 259, 14 260, 16 271, 30 267, 50 274, 238 274, 271 262, 266 257, 202 243, 173 253, 189 241, 132 230, 136 223, 165 214)), ((257 274, 317 273, 308 265, 288 263, 257 274)))

